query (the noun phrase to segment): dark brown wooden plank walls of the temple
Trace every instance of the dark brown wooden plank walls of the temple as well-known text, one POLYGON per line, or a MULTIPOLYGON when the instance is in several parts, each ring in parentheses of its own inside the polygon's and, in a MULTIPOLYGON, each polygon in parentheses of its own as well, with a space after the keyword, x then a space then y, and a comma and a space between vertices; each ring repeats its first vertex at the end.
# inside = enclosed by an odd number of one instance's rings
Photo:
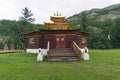
POLYGON ((80 48, 87 47, 87 34, 79 30, 40 30, 38 32, 26 34, 26 46, 28 49, 47 48, 50 41, 50 49, 56 48, 56 36, 64 36, 65 48, 70 48, 72 41, 75 41, 80 48), (30 38, 34 38, 34 43, 30 43, 30 38), (83 38, 86 40, 82 43, 83 38))

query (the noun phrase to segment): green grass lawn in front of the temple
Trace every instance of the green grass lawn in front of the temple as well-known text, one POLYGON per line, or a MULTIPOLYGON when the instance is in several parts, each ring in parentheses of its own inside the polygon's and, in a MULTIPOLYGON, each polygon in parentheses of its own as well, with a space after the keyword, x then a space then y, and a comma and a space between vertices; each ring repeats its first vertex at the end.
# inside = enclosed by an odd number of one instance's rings
POLYGON ((0 80, 120 80, 120 50, 90 50, 90 61, 36 62, 35 54, 0 54, 0 80))

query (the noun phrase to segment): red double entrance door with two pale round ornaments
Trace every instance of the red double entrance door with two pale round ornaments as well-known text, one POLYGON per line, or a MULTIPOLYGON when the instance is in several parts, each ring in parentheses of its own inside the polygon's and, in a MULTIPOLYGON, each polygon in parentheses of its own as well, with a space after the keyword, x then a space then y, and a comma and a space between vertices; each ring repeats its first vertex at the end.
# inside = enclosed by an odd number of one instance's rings
POLYGON ((65 36, 56 36, 56 48, 65 48, 65 36))

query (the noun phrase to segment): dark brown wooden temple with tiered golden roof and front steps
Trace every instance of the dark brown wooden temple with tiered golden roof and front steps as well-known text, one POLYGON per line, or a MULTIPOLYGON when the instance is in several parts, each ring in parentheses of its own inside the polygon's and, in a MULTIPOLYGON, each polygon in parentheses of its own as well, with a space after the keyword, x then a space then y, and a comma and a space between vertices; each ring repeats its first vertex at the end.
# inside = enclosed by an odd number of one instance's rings
POLYGON ((70 30, 70 23, 64 23, 60 13, 50 17, 52 23, 44 23, 45 30, 39 29, 26 36, 26 51, 37 53, 38 48, 47 49, 49 61, 80 60, 80 49, 87 47, 88 34, 70 30))

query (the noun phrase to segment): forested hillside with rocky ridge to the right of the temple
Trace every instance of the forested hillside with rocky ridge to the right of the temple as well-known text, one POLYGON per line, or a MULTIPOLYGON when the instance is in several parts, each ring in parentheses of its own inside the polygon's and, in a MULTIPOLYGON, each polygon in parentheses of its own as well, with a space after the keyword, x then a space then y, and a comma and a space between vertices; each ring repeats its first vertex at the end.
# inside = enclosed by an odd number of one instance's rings
POLYGON ((120 4, 82 11, 68 17, 65 22, 72 24, 71 29, 89 33, 89 48, 120 48, 120 4))

